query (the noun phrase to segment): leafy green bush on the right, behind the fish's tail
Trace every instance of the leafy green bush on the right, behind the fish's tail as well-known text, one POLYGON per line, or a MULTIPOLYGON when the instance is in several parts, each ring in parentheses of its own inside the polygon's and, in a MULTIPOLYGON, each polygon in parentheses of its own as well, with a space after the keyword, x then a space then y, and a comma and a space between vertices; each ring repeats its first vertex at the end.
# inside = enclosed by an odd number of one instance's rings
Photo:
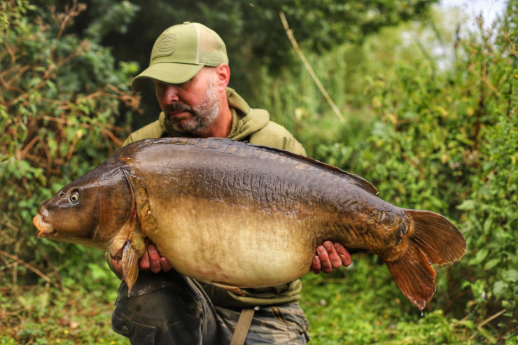
POLYGON ((468 251, 440 269, 433 308, 484 325, 472 335, 480 342, 518 327, 517 6, 458 42, 451 69, 407 60, 393 78, 367 76, 370 135, 316 148, 383 199, 454 220, 468 251))

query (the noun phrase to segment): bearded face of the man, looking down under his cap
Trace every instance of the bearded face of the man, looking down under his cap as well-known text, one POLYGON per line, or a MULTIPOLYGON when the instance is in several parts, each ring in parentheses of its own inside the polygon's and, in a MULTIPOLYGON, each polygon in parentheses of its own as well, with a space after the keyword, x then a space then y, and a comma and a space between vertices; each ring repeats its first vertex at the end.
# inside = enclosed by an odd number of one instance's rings
POLYGON ((201 135, 218 118, 220 105, 211 69, 202 69, 185 83, 168 84, 155 80, 155 85, 165 119, 177 131, 201 135))

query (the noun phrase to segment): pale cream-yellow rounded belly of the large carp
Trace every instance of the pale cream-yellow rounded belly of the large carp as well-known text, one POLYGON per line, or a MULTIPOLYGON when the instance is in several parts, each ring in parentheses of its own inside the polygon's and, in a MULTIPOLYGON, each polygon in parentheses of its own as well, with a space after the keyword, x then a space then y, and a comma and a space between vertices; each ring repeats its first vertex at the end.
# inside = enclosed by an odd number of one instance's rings
POLYGON ((180 273, 251 288, 309 272, 316 242, 304 220, 208 199, 177 201, 181 206, 158 212, 148 236, 180 273))

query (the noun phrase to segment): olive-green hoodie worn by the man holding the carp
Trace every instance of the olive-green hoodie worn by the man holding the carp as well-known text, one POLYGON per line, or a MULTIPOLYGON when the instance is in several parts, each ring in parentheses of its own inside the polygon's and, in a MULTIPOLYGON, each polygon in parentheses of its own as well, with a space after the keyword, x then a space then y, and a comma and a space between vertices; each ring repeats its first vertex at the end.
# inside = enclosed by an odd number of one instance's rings
MULTIPOLYGON (((251 108, 230 87, 227 87, 227 97, 228 104, 232 109, 232 129, 228 138, 306 155, 304 147, 287 129, 269 120, 269 113, 267 111, 251 108)), ((130 134, 123 145, 141 139, 166 136, 186 136, 186 134, 177 132, 172 127, 169 127, 167 122, 165 122, 165 114, 162 112, 158 120, 130 134)), ((302 289, 302 283, 298 279, 271 288, 245 289, 244 297, 211 285, 202 284, 202 286, 216 306, 230 308, 297 303, 300 300, 299 294, 302 289)))

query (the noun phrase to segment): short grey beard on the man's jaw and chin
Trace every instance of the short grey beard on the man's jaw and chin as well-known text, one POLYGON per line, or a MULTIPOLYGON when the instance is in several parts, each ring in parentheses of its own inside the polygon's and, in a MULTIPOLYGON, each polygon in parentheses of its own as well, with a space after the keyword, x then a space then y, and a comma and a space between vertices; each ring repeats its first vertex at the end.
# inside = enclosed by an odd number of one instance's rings
POLYGON ((216 94, 214 83, 211 80, 207 89, 207 97, 205 97, 199 106, 191 108, 183 102, 168 104, 165 108, 165 125, 169 128, 173 128, 177 132, 195 136, 212 125, 214 120, 218 118, 219 110, 218 94, 216 94), (193 116, 189 120, 183 120, 181 122, 171 121, 167 114, 172 111, 188 111, 193 116))

